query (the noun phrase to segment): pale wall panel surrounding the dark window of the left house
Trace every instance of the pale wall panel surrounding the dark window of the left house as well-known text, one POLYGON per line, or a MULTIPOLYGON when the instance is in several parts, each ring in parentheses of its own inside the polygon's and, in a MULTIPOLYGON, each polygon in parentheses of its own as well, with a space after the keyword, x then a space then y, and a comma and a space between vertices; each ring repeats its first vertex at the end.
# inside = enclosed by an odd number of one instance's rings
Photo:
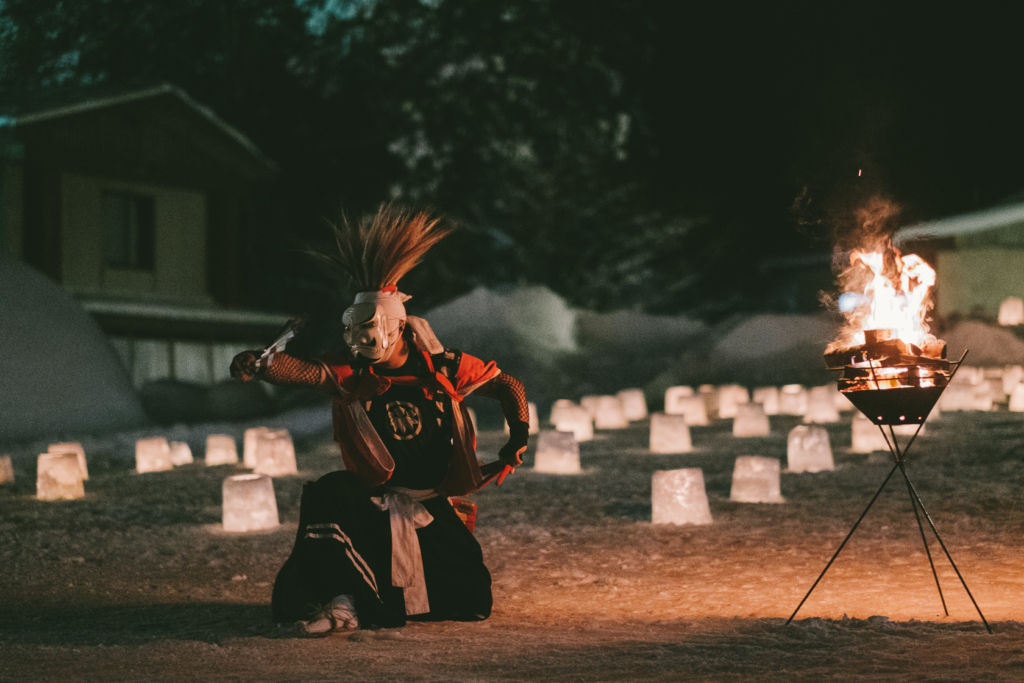
POLYGON ((208 300, 207 207, 203 194, 65 174, 61 205, 61 284, 68 291, 197 303, 208 300), (104 267, 100 224, 104 189, 155 198, 152 272, 104 267))

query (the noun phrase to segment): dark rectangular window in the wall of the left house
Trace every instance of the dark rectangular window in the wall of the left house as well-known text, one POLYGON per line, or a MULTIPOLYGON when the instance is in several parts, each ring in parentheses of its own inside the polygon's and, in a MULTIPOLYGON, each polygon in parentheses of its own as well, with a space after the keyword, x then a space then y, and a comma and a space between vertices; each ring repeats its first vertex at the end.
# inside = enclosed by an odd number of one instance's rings
POLYGON ((109 268, 153 270, 154 199, 104 191, 103 264, 109 268))

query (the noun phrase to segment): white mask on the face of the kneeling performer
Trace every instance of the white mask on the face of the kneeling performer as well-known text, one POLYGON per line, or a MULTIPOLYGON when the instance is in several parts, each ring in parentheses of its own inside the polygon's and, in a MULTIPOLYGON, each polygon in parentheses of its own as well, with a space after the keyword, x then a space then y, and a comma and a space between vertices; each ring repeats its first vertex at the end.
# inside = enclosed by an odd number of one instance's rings
POLYGON ((411 298, 396 290, 356 294, 355 302, 341 316, 345 344, 352 353, 370 362, 389 358, 401 339, 404 302, 411 298))

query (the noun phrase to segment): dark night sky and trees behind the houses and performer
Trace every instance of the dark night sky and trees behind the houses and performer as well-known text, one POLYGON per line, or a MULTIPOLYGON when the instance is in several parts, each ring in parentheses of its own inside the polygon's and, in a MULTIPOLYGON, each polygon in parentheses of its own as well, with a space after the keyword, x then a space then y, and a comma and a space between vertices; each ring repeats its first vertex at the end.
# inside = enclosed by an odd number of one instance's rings
MULTIPOLYGON (((1024 188, 1016 12, 655 0, 3 0, 0 87, 167 81, 280 166, 247 286, 347 303, 301 251, 397 200, 461 229, 403 285, 710 319, 814 310, 885 227, 1024 188), (861 175, 858 176, 858 172, 861 175), (816 269, 814 269, 816 268, 816 269), (337 301, 336 301, 337 300, 337 301)), ((325 303, 326 302, 326 303, 325 303)))

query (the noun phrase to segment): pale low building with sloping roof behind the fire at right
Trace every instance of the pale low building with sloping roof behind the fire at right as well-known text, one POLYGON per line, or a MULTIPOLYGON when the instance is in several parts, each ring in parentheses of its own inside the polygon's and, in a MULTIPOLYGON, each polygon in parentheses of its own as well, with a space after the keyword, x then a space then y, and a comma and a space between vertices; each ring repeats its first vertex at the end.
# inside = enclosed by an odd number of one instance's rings
POLYGON ((898 230, 894 243, 935 267, 936 312, 995 318, 1004 300, 1024 297, 1024 202, 898 230))

